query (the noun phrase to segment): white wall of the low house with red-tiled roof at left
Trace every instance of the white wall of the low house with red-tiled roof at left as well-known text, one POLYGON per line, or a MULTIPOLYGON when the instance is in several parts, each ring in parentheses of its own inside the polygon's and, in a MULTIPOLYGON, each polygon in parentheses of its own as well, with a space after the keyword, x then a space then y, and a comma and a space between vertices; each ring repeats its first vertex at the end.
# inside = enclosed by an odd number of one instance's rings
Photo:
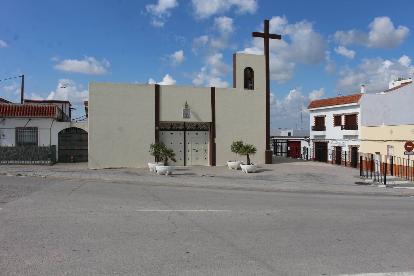
POLYGON ((37 127, 38 146, 56 145, 56 160, 58 159, 58 133, 68 127, 78 127, 88 132, 88 122, 58 122, 54 118, 35 117, 0 117, 0 146, 16 145, 16 127, 37 127), (5 119, 3 121, 3 119, 5 119), (1 135, 0 135, 1 137, 1 135))

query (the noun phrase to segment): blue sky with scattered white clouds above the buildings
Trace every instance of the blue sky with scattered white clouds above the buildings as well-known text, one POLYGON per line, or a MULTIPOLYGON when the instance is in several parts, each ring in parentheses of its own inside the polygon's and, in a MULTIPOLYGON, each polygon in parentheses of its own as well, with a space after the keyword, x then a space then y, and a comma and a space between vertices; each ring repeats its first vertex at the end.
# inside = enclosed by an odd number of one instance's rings
MULTIPOLYGON (((263 54, 251 32, 264 19, 282 35, 272 129, 299 127, 313 99, 383 91, 414 70, 414 21, 389 1, 0 0, 0 79, 24 74, 25 98, 62 100, 66 85, 73 118, 91 81, 230 87, 233 53, 263 54)), ((19 91, 19 78, 0 82, 1 98, 19 103, 19 91)))

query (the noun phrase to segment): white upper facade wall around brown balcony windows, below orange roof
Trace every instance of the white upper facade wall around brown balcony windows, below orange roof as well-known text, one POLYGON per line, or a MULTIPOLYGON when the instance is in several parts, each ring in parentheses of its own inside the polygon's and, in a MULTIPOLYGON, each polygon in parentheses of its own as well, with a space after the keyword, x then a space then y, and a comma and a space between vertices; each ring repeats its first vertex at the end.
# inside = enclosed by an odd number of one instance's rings
MULTIPOLYGON (((364 94, 365 95, 365 94, 364 94)), ((360 145, 361 141, 361 105, 359 103, 351 103, 347 105, 333 106, 327 108, 313 108, 310 109, 310 139, 312 140, 329 140, 330 142, 344 142, 346 145, 360 145), (334 114, 340 113, 354 113, 358 112, 357 122, 359 130, 341 130, 341 127, 334 127, 334 114), (315 125, 314 116, 326 115, 325 117, 325 135, 315 135, 315 131, 312 131, 312 127, 315 125), (358 135, 349 135, 351 133, 357 133, 358 135)), ((345 116, 342 115, 342 125, 345 123, 345 116)), ((333 149, 334 146, 329 146, 329 149, 333 149)), ((348 149, 345 149, 348 150, 348 149)))

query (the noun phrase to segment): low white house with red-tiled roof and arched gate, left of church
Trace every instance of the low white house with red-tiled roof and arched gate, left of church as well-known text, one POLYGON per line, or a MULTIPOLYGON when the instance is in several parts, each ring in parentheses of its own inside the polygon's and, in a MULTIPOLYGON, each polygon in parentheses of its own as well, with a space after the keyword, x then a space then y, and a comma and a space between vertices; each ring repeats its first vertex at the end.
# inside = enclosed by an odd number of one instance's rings
POLYGON ((87 122, 64 120, 70 117, 53 103, 25 102, 0 103, 0 162, 45 161, 47 151, 55 161, 87 161, 87 122))

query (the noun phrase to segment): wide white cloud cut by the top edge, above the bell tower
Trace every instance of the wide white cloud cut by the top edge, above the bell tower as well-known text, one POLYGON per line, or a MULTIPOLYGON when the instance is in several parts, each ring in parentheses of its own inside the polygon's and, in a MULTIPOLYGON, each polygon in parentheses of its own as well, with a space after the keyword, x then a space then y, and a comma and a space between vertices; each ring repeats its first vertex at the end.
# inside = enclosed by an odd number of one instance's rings
POLYGON ((192 0, 193 9, 197 18, 207 18, 216 13, 224 13, 236 7, 237 14, 254 14, 258 8, 257 0, 192 0))

